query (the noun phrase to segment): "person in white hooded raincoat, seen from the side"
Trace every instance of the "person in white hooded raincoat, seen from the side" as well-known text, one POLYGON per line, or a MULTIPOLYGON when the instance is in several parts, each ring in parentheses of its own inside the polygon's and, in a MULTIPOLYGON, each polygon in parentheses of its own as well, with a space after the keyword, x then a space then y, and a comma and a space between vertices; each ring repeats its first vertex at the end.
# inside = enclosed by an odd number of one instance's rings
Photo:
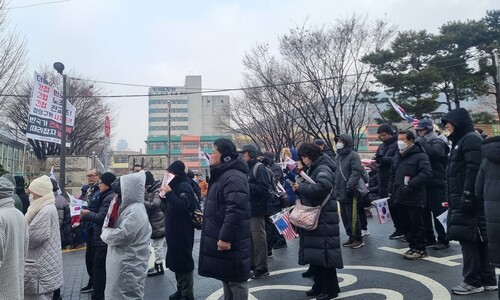
POLYGON ((144 171, 139 171, 110 183, 116 202, 108 211, 101 234, 108 245, 106 299, 144 298, 151 237, 144 207, 145 181, 144 171))

